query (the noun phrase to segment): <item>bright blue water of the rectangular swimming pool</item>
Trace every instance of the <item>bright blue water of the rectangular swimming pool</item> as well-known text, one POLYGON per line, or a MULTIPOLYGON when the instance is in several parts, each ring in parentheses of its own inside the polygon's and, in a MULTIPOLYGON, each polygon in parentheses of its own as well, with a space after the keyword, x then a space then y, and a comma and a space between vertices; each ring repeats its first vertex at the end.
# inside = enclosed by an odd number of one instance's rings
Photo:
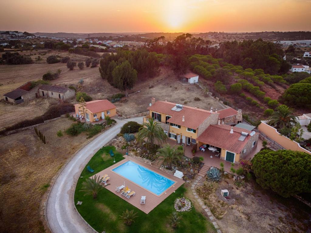
POLYGON ((169 180, 164 176, 161 176, 160 174, 153 172, 146 167, 142 167, 132 161, 125 162, 122 165, 112 169, 112 171, 156 195, 162 194, 175 183, 174 181, 169 180))

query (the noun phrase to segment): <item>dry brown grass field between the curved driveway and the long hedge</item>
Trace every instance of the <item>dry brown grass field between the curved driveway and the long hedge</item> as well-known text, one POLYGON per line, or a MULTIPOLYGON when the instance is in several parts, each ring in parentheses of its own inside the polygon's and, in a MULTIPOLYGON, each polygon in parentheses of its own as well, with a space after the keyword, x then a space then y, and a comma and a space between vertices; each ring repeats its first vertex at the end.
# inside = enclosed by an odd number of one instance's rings
POLYGON ((51 179, 87 141, 86 135, 58 137, 73 121, 60 118, 38 126, 47 144, 28 129, 1 137, 0 232, 44 232, 40 204, 51 179))

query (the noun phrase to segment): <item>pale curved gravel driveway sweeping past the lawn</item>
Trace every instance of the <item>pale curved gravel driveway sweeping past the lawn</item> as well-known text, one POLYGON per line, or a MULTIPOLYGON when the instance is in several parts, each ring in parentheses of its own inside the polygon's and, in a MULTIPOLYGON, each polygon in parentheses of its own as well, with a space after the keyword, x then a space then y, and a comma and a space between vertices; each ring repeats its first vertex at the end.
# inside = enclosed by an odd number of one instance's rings
POLYGON ((53 233, 94 232, 77 212, 74 191, 82 169, 93 155, 119 132, 128 121, 142 124, 142 117, 117 120, 117 124, 83 147, 66 165, 56 178, 45 206, 48 225, 53 233))

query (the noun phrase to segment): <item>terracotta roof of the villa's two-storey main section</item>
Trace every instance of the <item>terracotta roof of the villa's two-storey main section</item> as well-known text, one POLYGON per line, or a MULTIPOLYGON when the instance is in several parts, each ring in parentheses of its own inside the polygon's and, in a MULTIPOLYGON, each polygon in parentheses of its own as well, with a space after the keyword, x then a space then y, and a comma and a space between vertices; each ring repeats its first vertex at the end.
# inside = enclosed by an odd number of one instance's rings
POLYGON ((158 113, 164 113, 171 116, 167 122, 174 123, 180 126, 185 126, 191 129, 197 129, 200 124, 211 114, 217 114, 216 112, 211 113, 210 111, 183 106, 183 109, 179 112, 172 110, 176 103, 157 101, 148 110, 158 113), (184 121, 183 121, 184 116, 184 121))

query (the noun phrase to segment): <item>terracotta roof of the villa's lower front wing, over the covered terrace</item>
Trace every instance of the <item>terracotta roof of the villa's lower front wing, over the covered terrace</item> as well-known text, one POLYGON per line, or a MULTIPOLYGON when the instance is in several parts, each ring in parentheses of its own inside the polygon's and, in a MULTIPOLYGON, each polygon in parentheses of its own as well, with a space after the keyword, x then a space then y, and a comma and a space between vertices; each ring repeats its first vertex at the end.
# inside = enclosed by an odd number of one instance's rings
POLYGON ((241 153, 245 144, 251 138, 249 135, 251 131, 233 127, 233 134, 230 134, 230 130, 231 126, 229 125, 210 125, 197 138, 197 141, 219 147, 233 153, 241 153), (245 137, 244 141, 239 140, 242 132, 248 133, 248 136, 245 137))

